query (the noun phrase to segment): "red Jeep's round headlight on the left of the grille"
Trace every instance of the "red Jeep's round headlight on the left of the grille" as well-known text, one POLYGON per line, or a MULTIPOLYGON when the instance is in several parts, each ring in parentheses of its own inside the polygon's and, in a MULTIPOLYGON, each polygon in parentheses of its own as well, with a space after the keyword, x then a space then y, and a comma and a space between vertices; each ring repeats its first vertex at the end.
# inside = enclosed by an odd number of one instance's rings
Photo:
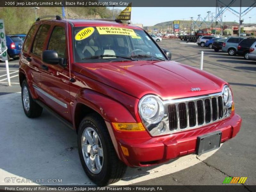
POLYGON ((155 95, 146 95, 140 100, 139 112, 148 123, 158 123, 164 116, 163 102, 155 95))

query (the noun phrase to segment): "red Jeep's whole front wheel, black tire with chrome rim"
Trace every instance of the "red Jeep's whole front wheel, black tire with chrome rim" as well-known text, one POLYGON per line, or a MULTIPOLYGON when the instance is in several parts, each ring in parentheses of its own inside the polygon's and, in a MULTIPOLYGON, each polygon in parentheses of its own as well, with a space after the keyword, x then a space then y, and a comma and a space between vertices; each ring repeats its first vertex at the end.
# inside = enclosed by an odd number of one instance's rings
POLYGON ((109 185, 122 179, 126 165, 116 156, 106 124, 99 115, 82 120, 77 139, 80 161, 94 183, 109 185))

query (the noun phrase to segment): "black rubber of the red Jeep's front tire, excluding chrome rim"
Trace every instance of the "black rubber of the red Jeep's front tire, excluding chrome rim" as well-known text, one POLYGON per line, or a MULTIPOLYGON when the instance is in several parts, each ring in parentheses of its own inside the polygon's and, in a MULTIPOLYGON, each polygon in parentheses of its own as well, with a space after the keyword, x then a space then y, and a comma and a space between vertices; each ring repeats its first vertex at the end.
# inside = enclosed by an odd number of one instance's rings
POLYGON ((101 116, 98 114, 90 114, 84 117, 79 126, 77 143, 81 164, 86 175, 94 183, 105 186, 122 179, 127 166, 117 157, 108 129, 101 116), (90 171, 87 167, 82 151, 82 136, 84 130, 88 128, 92 128, 98 134, 103 151, 102 168, 97 174, 90 171))

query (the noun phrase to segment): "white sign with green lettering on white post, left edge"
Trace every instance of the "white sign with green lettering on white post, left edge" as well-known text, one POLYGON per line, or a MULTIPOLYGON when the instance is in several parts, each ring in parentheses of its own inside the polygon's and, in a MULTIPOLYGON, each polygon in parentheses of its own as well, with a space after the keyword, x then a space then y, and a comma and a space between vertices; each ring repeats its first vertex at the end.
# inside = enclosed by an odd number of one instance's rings
POLYGON ((0 47, 2 52, 0 58, 2 60, 5 60, 7 81, 8 81, 8 85, 11 86, 8 56, 7 56, 7 46, 6 46, 5 31, 4 31, 4 20, 2 19, 0 19, 0 43, 1 43, 0 47))

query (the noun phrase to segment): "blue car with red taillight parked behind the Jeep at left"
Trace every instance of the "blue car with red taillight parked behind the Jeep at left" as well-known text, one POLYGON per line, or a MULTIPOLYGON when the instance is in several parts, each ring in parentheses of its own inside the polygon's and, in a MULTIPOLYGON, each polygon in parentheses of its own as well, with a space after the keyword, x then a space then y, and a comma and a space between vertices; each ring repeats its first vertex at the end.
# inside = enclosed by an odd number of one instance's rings
POLYGON ((6 35, 5 37, 6 37, 8 60, 10 60, 10 58, 19 59, 20 51, 23 45, 22 39, 16 35, 6 35))

